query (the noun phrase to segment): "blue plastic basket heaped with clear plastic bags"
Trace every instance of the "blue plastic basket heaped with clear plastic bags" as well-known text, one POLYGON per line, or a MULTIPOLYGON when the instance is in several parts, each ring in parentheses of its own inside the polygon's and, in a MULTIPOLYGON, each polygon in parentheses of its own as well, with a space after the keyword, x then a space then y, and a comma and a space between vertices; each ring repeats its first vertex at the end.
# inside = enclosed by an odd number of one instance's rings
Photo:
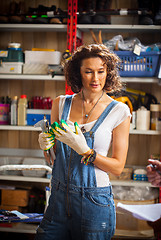
POLYGON ((103 43, 120 58, 121 77, 157 76, 160 67, 161 43, 143 45, 138 38, 123 39, 116 35, 103 43))

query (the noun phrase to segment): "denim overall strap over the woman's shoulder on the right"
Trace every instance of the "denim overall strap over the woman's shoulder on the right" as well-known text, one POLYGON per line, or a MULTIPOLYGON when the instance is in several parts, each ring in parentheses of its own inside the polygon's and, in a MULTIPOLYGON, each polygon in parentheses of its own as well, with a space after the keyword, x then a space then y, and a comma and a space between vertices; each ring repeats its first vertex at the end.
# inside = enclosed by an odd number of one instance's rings
POLYGON ((113 109, 113 107, 118 103, 118 101, 113 100, 107 107, 106 109, 103 111, 103 113, 101 114, 101 116, 97 119, 96 123, 94 124, 94 126, 92 127, 92 129, 90 130, 90 132, 95 132, 97 130, 97 128, 101 125, 101 123, 103 122, 103 120, 107 117, 107 115, 111 112, 111 110, 113 109))

